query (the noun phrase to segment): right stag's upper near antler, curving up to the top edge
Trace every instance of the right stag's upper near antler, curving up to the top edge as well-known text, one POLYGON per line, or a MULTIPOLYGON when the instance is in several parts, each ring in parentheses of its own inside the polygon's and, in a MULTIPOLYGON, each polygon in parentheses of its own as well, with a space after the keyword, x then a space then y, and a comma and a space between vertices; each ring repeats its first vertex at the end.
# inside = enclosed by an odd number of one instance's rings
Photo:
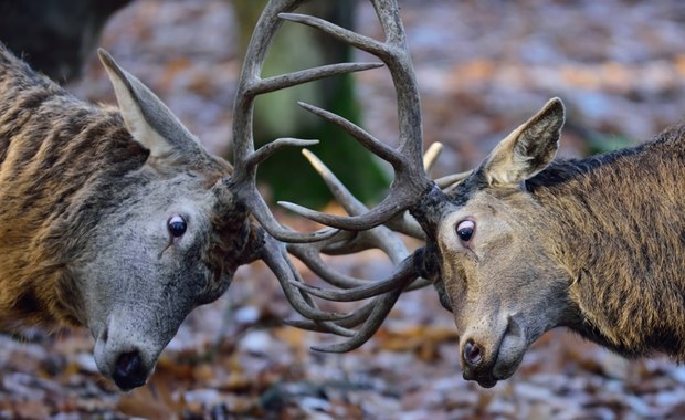
POLYGON ((281 203, 285 208, 319 223, 355 231, 377 227, 402 213, 413 206, 417 199, 425 193, 433 183, 423 169, 423 128, 419 90, 407 48, 404 29, 399 17, 399 7, 396 0, 375 0, 372 3, 386 33, 384 42, 360 35, 323 19, 304 14, 281 13, 283 19, 316 28, 339 41, 378 56, 388 66, 392 76, 397 92, 400 137, 397 149, 375 139, 342 117, 310 105, 303 105, 314 114, 340 126, 362 146, 389 161, 394 169, 394 181, 390 186, 388 196, 372 210, 363 214, 338 217, 288 202, 281 203))

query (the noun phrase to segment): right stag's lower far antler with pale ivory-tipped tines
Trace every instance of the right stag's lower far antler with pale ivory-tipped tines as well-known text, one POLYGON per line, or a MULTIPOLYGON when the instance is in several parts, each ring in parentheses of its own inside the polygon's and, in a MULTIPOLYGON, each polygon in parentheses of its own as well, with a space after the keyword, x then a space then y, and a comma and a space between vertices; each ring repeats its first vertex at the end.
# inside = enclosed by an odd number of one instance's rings
MULTIPOLYGON (((433 144, 425 154, 423 164, 428 171, 440 154, 441 145, 433 144)), ((322 176, 334 197, 345 210, 352 216, 368 212, 367 208, 361 204, 342 183, 333 175, 333 172, 320 161, 314 154, 303 150, 309 162, 322 176)), ((460 175, 449 178, 452 179, 460 175)), ((288 244, 288 251, 302 260, 314 273, 320 276, 327 283, 342 288, 342 291, 323 290, 313 287, 304 283, 293 283, 294 286, 307 292, 308 294, 322 297, 328 301, 349 302, 360 301, 375 297, 373 301, 361 306, 352 314, 341 321, 327 323, 324 325, 317 321, 286 321, 287 324, 303 329, 315 332, 326 332, 345 337, 350 337, 347 342, 334 344, 330 346, 317 346, 316 350, 344 353, 352 350, 366 343, 378 330, 390 309, 398 301, 400 294, 408 290, 415 290, 431 284, 431 282, 418 279, 414 267, 414 255, 409 255, 407 246, 396 232, 403 232, 414 238, 423 239, 423 232, 418 223, 410 219, 407 212, 396 216, 388 224, 394 225, 393 230, 379 225, 370 230, 350 232, 340 231, 338 234, 317 243, 293 243, 288 244), (401 229, 398 229, 401 228, 401 229), (417 232, 419 230, 420 232, 417 232), (368 250, 371 248, 382 250, 390 260, 397 264, 394 272, 384 280, 378 282, 369 282, 359 280, 338 273, 328 267, 322 260, 320 254, 349 254, 368 250), (335 326, 331 328, 331 325, 335 326), (350 328, 361 326, 358 330, 350 328), (344 329, 340 329, 344 328, 344 329)))

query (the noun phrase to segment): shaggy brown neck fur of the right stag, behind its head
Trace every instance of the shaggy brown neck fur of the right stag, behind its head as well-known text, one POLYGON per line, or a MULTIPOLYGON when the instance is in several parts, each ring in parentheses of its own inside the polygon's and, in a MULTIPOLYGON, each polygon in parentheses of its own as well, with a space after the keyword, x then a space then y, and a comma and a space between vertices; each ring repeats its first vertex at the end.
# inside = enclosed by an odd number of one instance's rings
POLYGON ((546 249, 569 275, 569 327, 625 356, 685 360, 684 179, 676 127, 633 149, 555 161, 527 182, 548 211, 546 249))

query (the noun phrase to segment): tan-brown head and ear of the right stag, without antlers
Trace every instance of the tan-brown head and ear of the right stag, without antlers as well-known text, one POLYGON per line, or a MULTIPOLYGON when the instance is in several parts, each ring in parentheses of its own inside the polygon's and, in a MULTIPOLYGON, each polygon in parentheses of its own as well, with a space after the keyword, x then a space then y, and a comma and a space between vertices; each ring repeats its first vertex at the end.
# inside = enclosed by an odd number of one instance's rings
POLYGON ((489 387, 514 374, 528 346, 566 319, 568 275, 549 254, 545 210, 526 180, 555 156, 563 106, 550 101, 464 181, 417 212, 429 232, 428 267, 460 332, 464 377, 489 387), (554 304, 550 304, 554 303, 554 304))

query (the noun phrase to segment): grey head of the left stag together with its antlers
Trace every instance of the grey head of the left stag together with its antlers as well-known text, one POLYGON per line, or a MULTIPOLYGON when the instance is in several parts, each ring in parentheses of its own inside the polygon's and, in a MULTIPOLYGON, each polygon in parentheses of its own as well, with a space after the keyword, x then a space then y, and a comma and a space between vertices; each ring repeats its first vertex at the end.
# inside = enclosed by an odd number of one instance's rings
POLYGON ((91 252, 71 267, 83 284, 80 318, 96 340, 96 364, 122 389, 145 384, 188 313, 217 300, 238 266, 257 259, 303 315, 320 322, 344 317, 316 309, 292 285, 299 275, 278 241, 308 243, 335 230, 302 234, 281 225, 256 189, 261 161, 283 147, 316 141, 278 139, 255 150, 252 107, 260 94, 376 65, 335 65, 262 80, 261 49, 268 41, 261 36, 273 35, 278 22, 270 10, 292 3, 266 8, 246 54, 234 112, 234 169, 207 153, 140 81, 98 52, 131 139, 149 151, 144 167, 127 175, 131 181, 116 192, 120 202, 106 223, 91 232, 91 252))

